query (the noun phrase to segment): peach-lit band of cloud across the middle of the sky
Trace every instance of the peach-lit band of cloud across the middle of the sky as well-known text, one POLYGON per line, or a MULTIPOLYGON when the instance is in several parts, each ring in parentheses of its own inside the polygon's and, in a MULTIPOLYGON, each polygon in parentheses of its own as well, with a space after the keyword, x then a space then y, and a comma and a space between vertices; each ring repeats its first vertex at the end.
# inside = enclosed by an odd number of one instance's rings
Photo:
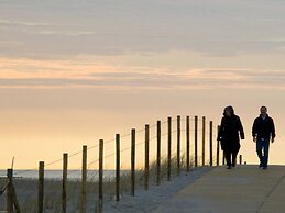
POLYGON ((1 60, 1 88, 285 89, 285 70, 122 67, 76 61, 1 60), (21 70, 19 70, 21 67, 21 70))

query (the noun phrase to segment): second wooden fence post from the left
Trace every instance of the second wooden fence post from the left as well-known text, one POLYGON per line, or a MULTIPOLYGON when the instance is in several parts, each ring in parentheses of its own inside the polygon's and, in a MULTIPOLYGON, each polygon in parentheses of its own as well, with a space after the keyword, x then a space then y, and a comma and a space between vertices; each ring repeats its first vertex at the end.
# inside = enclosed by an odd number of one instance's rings
POLYGON ((44 161, 39 162, 37 213, 44 212, 44 161))

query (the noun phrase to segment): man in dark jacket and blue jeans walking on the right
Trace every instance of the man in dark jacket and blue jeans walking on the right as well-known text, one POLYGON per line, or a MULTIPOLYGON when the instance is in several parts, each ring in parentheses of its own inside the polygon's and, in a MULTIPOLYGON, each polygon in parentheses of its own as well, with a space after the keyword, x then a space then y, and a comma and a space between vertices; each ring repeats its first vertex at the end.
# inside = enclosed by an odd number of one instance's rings
POLYGON ((261 107, 261 114, 254 120, 252 126, 253 142, 256 143, 256 152, 260 158, 260 168, 267 169, 270 141, 275 138, 275 126, 273 119, 267 114, 267 108, 261 107))

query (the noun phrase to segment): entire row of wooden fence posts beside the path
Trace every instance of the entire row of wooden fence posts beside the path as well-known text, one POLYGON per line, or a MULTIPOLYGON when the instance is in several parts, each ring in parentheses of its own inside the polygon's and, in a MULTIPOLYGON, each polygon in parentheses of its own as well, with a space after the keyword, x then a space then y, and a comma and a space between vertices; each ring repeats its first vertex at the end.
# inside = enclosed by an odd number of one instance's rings
MULTIPOLYGON (((206 116, 202 116, 201 130, 201 165, 206 165, 206 116)), ((177 176, 180 175, 180 115, 177 115, 177 176)), ((157 121, 157 153, 156 153, 156 184, 161 183, 161 150, 162 150, 162 122, 157 121)), ((219 134, 220 126, 217 126, 219 134)), ((198 167, 198 116, 195 116, 194 125, 194 145, 195 145, 195 167, 198 167)), ((135 194, 135 128, 131 130, 131 195, 135 194)), ((144 154, 144 189, 149 189, 150 179, 150 125, 145 124, 145 154, 144 154)), ((120 176, 121 176, 121 155, 120 155, 120 134, 116 134, 116 201, 120 201, 120 176)), ((213 122, 209 122, 209 165, 213 166, 213 122)), ((242 165, 242 155, 239 156, 242 165)), ((217 142, 217 166, 220 165, 220 142, 217 142)), ((222 152, 222 165, 224 165, 224 153, 222 152)), ((39 186, 37 186, 37 213, 44 212, 44 161, 39 162, 39 186)), ((190 117, 186 116, 186 168, 190 171, 190 117)), ((63 182, 62 182, 62 212, 67 212, 67 171, 68 154, 63 154, 63 182)), ((18 198, 13 186, 13 170, 8 169, 7 176, 7 211, 20 213, 18 198)), ((167 180, 172 178, 172 117, 167 117, 167 180)), ((80 193, 80 213, 87 211, 87 146, 83 146, 83 168, 81 168, 81 193, 80 193)), ((103 209, 103 139, 99 141, 99 193, 97 212, 101 213, 103 209)))

